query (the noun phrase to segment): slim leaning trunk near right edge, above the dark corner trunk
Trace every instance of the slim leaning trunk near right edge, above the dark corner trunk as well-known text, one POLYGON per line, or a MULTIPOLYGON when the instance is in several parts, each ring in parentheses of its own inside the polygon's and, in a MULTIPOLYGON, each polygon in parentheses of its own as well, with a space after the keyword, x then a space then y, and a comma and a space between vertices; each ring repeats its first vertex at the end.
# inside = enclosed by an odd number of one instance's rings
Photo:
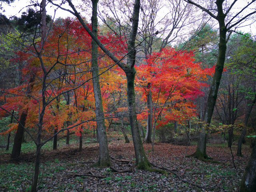
POLYGON ((248 124, 248 120, 250 117, 250 114, 252 112, 252 108, 256 102, 256 94, 254 95, 254 100, 252 101, 252 104, 249 105, 248 110, 246 111, 245 118, 244 118, 244 129, 242 130, 242 134, 239 137, 238 144, 237 144, 237 151, 236 155, 241 157, 242 156, 242 142, 244 140, 245 134, 246 134, 246 127, 248 124))

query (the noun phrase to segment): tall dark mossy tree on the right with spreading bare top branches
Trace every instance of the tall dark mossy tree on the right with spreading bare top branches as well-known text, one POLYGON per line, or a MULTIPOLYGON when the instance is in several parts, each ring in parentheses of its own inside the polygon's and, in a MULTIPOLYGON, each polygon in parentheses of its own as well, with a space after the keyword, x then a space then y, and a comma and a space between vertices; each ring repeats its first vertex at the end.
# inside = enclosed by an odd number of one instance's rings
MULTIPOLYGON (((206 102, 206 108, 204 110, 203 118, 202 120, 205 121, 207 124, 210 124, 212 114, 214 111, 214 106, 217 99, 218 94, 218 88, 220 85, 220 80, 224 68, 225 63, 225 55, 226 55, 226 44, 227 44, 227 38, 226 33, 231 30, 233 27, 237 26, 238 24, 241 24, 246 19, 251 18, 254 16, 256 11, 249 12, 245 16, 239 17, 244 13, 244 10, 246 8, 250 8, 250 6, 253 6, 255 3, 255 0, 252 0, 252 2, 246 4, 243 8, 241 8, 238 12, 232 13, 231 10, 234 7, 234 4, 236 4, 237 0, 234 0, 231 2, 231 4, 228 4, 228 2, 224 3, 224 0, 216 0, 215 4, 210 3, 209 8, 204 7, 192 0, 184 0, 185 2, 188 2, 190 4, 193 4, 200 8, 202 11, 209 14, 212 18, 217 20, 219 24, 219 44, 218 44, 218 60, 216 63, 215 73, 213 76, 213 80, 210 86, 210 92, 208 94, 207 102, 206 102), (233 15, 232 15, 233 14, 233 15)), ((196 148, 196 152, 192 154, 193 156, 197 157, 200 160, 206 160, 208 158, 206 154, 206 140, 207 140, 207 133, 205 128, 202 128, 202 135, 200 136, 196 148)))

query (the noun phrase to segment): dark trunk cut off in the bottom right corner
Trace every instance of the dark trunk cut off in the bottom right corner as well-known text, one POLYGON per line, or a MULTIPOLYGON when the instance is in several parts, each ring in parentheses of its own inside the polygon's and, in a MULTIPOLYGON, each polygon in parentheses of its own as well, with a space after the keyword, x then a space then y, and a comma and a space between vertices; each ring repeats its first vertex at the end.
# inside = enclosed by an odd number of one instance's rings
MULTIPOLYGON (((254 140, 254 143, 256 139, 254 140)), ((252 149, 250 160, 245 168, 240 192, 254 192, 256 189, 256 145, 252 149)))

